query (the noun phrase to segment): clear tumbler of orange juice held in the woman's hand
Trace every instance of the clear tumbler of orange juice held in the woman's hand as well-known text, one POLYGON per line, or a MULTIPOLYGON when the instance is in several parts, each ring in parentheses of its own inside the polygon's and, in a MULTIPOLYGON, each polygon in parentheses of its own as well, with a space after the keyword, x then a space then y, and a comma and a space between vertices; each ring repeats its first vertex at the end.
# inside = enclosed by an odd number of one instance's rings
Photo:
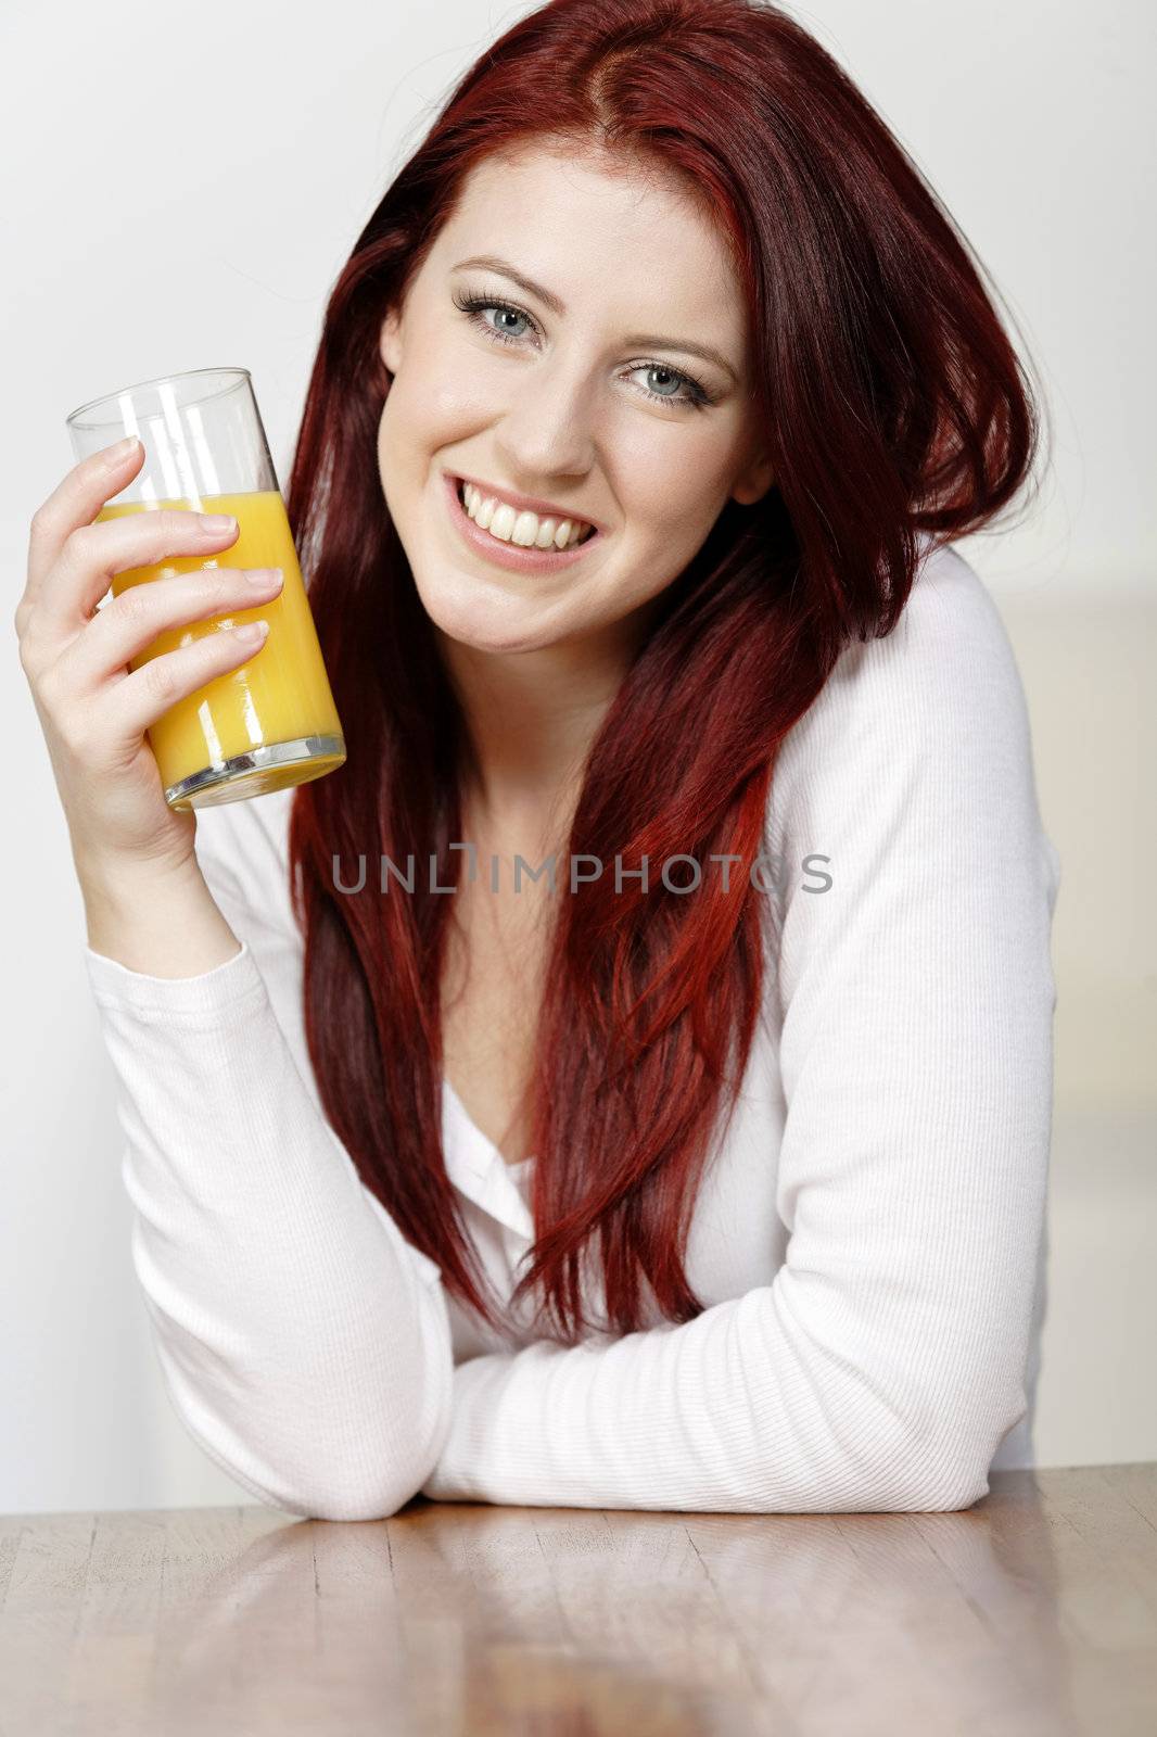
POLYGON ((236 540, 207 561, 181 556, 116 573, 113 598, 205 566, 280 566, 285 575, 276 598, 170 629, 132 658, 136 670, 202 634, 259 617, 269 622, 250 664, 215 676, 149 726, 169 806, 236 802, 335 771, 346 761, 346 738, 248 370, 193 368, 142 380, 82 405, 66 422, 76 459, 125 434, 144 445, 141 471, 101 507, 97 523, 162 507, 229 512, 238 523, 236 540))

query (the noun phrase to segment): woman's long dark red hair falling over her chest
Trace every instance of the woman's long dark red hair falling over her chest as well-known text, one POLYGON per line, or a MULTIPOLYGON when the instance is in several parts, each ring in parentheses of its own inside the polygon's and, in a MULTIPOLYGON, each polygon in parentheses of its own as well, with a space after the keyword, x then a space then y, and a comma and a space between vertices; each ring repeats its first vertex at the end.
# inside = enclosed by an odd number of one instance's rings
MULTIPOLYGON (((365 226, 330 297, 287 504, 334 697, 340 773, 294 796, 304 1014, 327 1115, 365 1186, 450 1292, 500 1324, 441 1150, 446 898, 334 858, 436 858, 457 882, 464 721, 374 462, 379 356, 464 177, 495 151, 618 153, 702 201, 742 285, 775 485, 728 500, 662 594, 594 740, 568 841, 624 872, 702 865, 691 896, 627 879, 558 898, 530 1082, 551 1336, 702 1310, 683 1258, 712 1134, 730 1120, 773 926, 764 849, 780 743, 841 648, 889 632, 917 537, 987 523, 1028 478, 1039 419, 983 267, 830 56, 747 0, 551 0, 466 73, 365 226), (730 891, 709 874, 730 853, 730 891), (756 875, 756 881, 759 875, 756 875), (598 1238, 605 1320, 580 1259, 598 1238)), ((565 858, 563 858, 565 860, 565 858)), ((674 877, 686 884, 684 875, 674 877)))

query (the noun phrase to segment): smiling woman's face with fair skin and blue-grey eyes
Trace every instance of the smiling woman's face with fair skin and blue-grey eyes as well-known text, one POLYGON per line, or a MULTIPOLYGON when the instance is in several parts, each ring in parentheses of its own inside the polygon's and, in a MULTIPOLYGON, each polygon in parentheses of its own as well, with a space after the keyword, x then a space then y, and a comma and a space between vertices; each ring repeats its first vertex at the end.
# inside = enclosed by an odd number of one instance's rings
POLYGON ((431 620, 479 651, 629 644, 728 497, 771 483, 723 243, 690 198, 620 163, 540 148, 481 163, 380 353, 386 502, 431 620), (502 552, 542 542, 545 514, 516 516, 512 544, 467 535, 459 478, 599 532, 554 571, 511 571, 502 552))

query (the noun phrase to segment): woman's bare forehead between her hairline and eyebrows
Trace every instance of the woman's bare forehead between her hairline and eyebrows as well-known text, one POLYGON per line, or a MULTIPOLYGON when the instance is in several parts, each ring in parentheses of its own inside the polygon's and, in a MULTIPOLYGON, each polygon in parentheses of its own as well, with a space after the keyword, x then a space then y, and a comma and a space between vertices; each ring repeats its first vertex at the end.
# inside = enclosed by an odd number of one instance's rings
POLYGON ((662 165, 528 146, 466 177, 431 266, 490 254, 552 290, 568 311, 615 309, 636 328, 711 325, 742 340, 744 299, 726 243, 662 165))

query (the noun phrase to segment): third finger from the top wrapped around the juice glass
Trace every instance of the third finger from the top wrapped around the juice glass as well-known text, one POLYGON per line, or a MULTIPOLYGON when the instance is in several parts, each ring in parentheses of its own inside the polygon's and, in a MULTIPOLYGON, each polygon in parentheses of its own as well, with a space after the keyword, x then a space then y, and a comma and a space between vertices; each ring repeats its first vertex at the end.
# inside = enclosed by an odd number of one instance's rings
POLYGON ((254 618, 250 611, 268 606, 281 584, 281 568, 208 566, 130 585, 97 610, 61 653, 52 667, 52 686, 69 697, 96 693, 109 677, 123 674, 160 634, 214 617, 240 625, 254 618))

